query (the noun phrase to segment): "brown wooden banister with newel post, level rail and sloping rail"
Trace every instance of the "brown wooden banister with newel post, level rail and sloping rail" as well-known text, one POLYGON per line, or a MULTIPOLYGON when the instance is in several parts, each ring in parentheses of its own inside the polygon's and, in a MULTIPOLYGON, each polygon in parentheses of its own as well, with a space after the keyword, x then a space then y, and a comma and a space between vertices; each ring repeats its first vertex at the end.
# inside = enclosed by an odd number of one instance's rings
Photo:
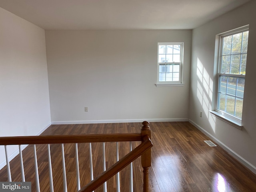
MULTIPOLYGON (((34 145, 34 156, 36 157, 36 144, 63 144, 64 143, 93 143, 93 142, 132 142, 141 141, 141 144, 134 148, 130 153, 124 156, 121 160, 116 162, 108 170, 104 171, 100 176, 95 178, 92 182, 84 186, 79 192, 92 192, 100 185, 110 179, 112 176, 120 172, 124 167, 128 166, 136 158, 141 156, 141 163, 143 167, 143 191, 148 192, 149 174, 148 170, 151 166, 151 152, 150 148, 153 146, 150 140, 151 133, 149 122, 144 121, 141 133, 124 133, 124 134, 80 134, 80 135, 50 135, 50 136, 14 136, 14 137, 0 137, 0 145, 34 145)), ((62 150, 64 160, 64 147, 62 150)), ((6 153, 7 158, 7 153, 6 153)), ((35 158, 36 161, 36 158, 35 158)), ((65 160, 64 160, 65 161, 65 160)), ((6 160, 7 164, 9 163, 6 160)), ((8 174, 10 169, 8 169, 8 174)), ((38 181, 39 183, 39 181, 38 181)), ((38 184, 39 186, 39 184, 38 184)))

